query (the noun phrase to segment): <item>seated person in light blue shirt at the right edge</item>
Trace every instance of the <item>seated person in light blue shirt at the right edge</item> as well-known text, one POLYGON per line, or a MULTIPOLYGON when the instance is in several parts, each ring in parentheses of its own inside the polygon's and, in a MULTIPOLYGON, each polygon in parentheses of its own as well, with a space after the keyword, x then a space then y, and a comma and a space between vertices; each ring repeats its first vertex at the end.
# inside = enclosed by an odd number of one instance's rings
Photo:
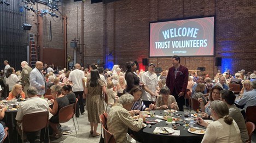
POLYGON ((240 100, 237 100, 235 103, 238 105, 245 105, 245 110, 249 106, 256 105, 256 80, 253 80, 251 83, 253 90, 248 91, 243 94, 243 97, 240 100))

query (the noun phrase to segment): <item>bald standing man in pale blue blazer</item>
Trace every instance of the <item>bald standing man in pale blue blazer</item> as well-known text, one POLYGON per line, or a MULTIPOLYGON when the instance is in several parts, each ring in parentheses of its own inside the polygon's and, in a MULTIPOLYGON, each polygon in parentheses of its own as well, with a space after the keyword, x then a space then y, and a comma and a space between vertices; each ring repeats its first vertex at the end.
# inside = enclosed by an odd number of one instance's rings
POLYGON ((38 95, 44 95, 46 90, 46 82, 44 74, 42 73, 43 67, 42 61, 37 61, 36 67, 30 73, 30 86, 37 89, 38 95))

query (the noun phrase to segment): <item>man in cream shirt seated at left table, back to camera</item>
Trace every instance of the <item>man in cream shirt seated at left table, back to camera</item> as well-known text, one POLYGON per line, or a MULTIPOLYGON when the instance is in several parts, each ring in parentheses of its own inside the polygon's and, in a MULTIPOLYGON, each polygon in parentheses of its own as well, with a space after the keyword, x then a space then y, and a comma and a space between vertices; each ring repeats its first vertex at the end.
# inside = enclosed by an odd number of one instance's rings
MULTIPOLYGON (((28 99, 25 102, 21 102, 20 103, 20 108, 19 111, 16 115, 16 120, 17 120, 17 127, 18 127, 18 132, 21 134, 22 130, 21 130, 21 126, 22 126, 22 118, 24 115, 26 114, 31 114, 31 113, 37 113, 37 112, 41 112, 41 111, 49 111, 49 105, 47 103, 47 101, 45 101, 42 98, 39 98, 37 96, 37 89, 30 86, 27 88, 27 96, 28 99)), ((33 119, 31 119, 33 120, 33 119)), ((24 138, 23 140, 26 140, 26 138, 30 141, 30 142, 40 142, 39 139, 40 136, 40 130, 38 130, 37 132, 33 132, 33 133, 26 133, 24 134, 24 138)))

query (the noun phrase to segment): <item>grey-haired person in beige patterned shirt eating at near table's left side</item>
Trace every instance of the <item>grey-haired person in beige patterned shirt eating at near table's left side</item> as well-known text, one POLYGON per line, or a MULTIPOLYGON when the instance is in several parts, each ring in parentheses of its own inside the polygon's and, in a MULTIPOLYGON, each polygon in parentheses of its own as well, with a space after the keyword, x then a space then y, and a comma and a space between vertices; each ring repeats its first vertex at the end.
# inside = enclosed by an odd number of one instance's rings
POLYGON ((114 135, 117 143, 127 142, 126 133, 128 128, 138 132, 143 126, 143 115, 139 114, 138 121, 136 121, 129 113, 133 102, 134 97, 132 95, 124 94, 109 111, 107 127, 108 131, 114 135))

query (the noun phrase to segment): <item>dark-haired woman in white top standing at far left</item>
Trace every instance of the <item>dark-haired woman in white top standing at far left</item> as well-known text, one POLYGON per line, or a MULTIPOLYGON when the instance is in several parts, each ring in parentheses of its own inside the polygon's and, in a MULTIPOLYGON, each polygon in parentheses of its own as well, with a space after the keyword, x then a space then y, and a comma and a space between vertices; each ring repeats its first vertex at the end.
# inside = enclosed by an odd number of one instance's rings
POLYGON ((6 75, 6 84, 9 85, 9 91, 11 91, 13 89, 13 86, 15 84, 18 84, 19 83, 19 78, 18 76, 15 74, 15 70, 13 69, 13 67, 9 67, 7 69, 7 73, 5 73, 6 75))

